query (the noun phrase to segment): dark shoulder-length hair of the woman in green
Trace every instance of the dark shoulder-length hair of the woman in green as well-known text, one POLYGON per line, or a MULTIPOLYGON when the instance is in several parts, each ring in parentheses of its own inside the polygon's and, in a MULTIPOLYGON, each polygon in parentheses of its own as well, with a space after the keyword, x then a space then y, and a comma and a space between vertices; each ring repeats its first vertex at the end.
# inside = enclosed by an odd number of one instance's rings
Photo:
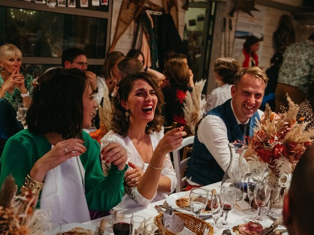
POLYGON ((54 68, 37 79, 26 123, 31 133, 58 133, 63 139, 82 138, 85 72, 54 68))

